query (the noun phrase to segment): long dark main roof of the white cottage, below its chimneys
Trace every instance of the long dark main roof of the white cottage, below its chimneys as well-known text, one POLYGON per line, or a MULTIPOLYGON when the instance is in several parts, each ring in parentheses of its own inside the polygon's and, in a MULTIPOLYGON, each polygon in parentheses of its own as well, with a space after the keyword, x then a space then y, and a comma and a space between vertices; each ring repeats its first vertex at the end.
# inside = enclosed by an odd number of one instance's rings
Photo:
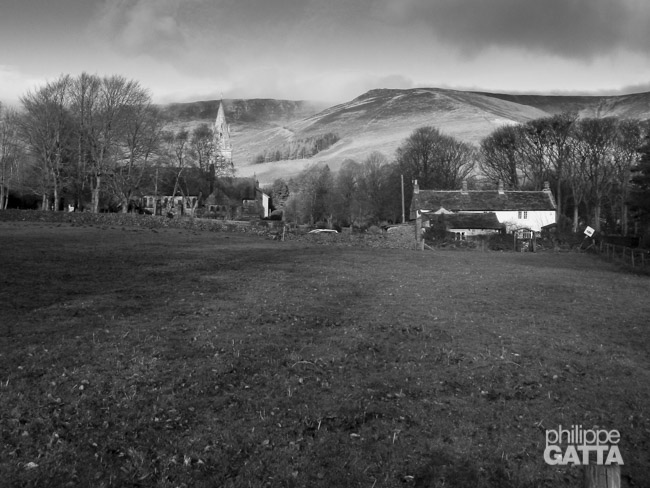
MULTIPOLYGON (((415 196, 415 195, 414 195, 415 196)), ((550 191, 420 190, 419 210, 452 212, 555 210, 550 191)))

